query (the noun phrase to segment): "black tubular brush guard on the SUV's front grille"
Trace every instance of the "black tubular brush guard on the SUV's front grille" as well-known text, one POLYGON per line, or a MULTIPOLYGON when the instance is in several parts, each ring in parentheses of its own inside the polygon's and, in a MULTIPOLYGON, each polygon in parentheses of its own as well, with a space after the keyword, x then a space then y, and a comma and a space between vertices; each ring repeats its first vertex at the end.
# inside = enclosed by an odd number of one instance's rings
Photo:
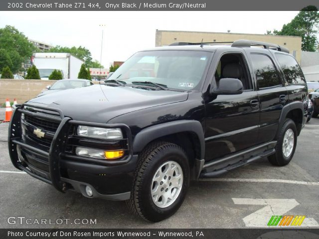
POLYGON ((92 122, 85 122, 85 121, 77 121, 77 120, 72 120, 69 117, 64 117, 62 111, 59 109, 43 107, 43 106, 34 106, 30 104, 22 104, 22 105, 16 105, 16 108, 13 111, 13 114, 9 123, 8 149, 9 149, 9 156, 14 167, 26 172, 27 174, 31 175, 34 178, 37 178, 43 182, 53 185, 60 192, 65 192, 66 184, 65 182, 61 181, 59 161, 60 161, 61 155, 64 154, 65 152, 65 147, 67 145, 67 141, 69 137, 69 129, 72 125, 85 125, 85 126, 93 126, 93 127, 101 127, 101 128, 121 128, 125 132, 127 137, 128 155, 125 157, 124 160, 105 161, 105 162, 98 159, 93 159, 93 158, 88 159, 88 158, 80 157, 77 155, 69 155, 70 158, 81 159, 81 160, 85 159, 89 162, 95 162, 95 163, 110 165, 110 166, 125 164, 132 158, 133 156, 132 134, 131 134, 131 130, 129 126, 126 124, 106 124, 106 123, 92 123, 92 122), (40 110, 44 110, 48 112, 56 112, 59 114, 60 117, 58 118, 58 117, 45 115, 41 113, 34 113, 31 111, 25 110, 25 107, 40 109, 40 110), (21 130, 21 114, 22 113, 35 118, 47 119, 47 120, 55 121, 59 123, 59 126, 52 139, 49 152, 38 149, 31 145, 28 145, 22 140, 22 130, 21 130), (48 158, 49 175, 51 180, 43 178, 26 168, 26 165, 19 160, 17 149, 16 149, 17 145, 19 145, 22 148, 31 150, 35 153, 46 156, 48 158))

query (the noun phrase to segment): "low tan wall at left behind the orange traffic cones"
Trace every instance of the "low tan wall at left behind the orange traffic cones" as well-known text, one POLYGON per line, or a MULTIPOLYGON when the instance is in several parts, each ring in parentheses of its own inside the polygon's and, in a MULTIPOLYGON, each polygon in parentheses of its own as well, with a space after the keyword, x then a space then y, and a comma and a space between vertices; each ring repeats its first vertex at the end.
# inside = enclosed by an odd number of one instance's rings
POLYGON ((5 103, 6 98, 11 102, 15 98, 18 103, 24 103, 54 82, 56 81, 0 79, 0 104, 5 103))

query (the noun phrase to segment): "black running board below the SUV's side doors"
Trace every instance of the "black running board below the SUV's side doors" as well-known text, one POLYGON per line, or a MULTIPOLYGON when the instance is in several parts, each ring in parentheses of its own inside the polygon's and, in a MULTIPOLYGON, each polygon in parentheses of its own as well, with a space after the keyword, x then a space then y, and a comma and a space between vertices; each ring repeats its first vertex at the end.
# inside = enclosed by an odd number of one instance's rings
POLYGON ((203 171, 200 173, 199 178, 213 178, 221 174, 227 173, 228 171, 234 168, 238 168, 240 166, 253 163, 264 157, 274 154, 275 153, 274 146, 276 145, 276 143, 277 141, 272 141, 266 144, 259 145, 254 149, 244 150, 243 152, 237 153, 235 155, 228 156, 228 157, 216 160, 214 162, 208 163, 204 165, 203 171), (256 154, 254 156, 249 155, 256 152, 256 150, 262 150, 262 149, 264 149, 264 151, 257 153, 257 155, 256 154), (237 160, 237 162, 234 162, 235 160, 237 160), (222 168, 218 167, 218 164, 220 165, 220 163, 227 163, 227 162, 229 162, 229 164, 227 164, 225 167, 222 167, 222 168), (231 162, 233 163, 231 164, 231 162), (217 168, 217 169, 214 169, 214 168, 217 168))

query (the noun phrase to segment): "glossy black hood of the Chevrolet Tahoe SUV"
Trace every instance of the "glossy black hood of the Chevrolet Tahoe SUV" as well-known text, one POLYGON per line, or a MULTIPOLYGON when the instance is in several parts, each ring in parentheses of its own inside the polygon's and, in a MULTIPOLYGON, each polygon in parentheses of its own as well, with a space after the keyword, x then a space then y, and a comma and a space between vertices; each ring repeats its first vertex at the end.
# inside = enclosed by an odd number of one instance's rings
POLYGON ((186 92, 94 85, 43 95, 28 103, 60 109, 74 120, 106 123, 126 113, 186 101, 187 97, 186 92))

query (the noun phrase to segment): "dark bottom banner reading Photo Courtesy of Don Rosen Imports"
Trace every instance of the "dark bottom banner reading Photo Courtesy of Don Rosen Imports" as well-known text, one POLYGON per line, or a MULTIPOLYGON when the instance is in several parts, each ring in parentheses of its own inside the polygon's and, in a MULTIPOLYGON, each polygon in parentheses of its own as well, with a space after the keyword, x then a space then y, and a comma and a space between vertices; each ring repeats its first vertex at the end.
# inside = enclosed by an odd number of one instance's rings
POLYGON ((319 229, 0 229, 1 239, 319 239, 319 229))

